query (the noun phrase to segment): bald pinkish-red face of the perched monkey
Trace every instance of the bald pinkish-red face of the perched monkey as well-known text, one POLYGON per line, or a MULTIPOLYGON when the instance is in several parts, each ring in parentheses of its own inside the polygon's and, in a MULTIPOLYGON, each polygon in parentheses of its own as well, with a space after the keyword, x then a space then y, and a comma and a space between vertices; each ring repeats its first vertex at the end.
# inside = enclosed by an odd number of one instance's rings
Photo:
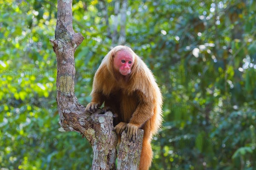
POLYGON ((131 66, 133 64, 132 55, 124 50, 116 52, 113 65, 115 69, 118 69, 122 75, 128 75, 131 73, 131 66))

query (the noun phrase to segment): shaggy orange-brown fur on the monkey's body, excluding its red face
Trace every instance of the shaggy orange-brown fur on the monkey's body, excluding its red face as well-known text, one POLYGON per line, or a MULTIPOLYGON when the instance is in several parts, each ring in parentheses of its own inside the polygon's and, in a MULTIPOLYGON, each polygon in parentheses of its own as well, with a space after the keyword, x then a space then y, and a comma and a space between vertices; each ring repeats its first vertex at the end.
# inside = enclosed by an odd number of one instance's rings
POLYGON ((92 103, 105 102, 117 114, 116 124, 130 123, 144 130, 140 170, 151 166, 152 135, 162 122, 162 95, 154 75, 146 64, 127 46, 116 46, 103 59, 93 80, 92 103), (124 50, 133 56, 131 73, 123 76, 113 69, 116 52, 124 50))

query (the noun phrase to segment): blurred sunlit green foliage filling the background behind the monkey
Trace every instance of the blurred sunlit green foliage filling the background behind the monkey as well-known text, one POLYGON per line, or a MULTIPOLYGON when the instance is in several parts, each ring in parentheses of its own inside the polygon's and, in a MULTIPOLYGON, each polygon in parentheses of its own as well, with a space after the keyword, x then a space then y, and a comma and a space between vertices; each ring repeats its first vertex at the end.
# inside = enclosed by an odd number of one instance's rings
MULTIPOLYGON (((49 43, 57 2, 22 2, 0 1, 0 167, 90 169, 90 144, 58 131, 57 64, 49 43)), ((73 0, 73 28, 85 37, 75 54, 76 96, 84 105, 96 69, 116 45, 108 36, 115 6, 105 3, 104 10, 99 2, 73 0)), ((148 64, 164 97, 151 169, 256 168, 255 5, 128 1, 122 43, 148 64)))

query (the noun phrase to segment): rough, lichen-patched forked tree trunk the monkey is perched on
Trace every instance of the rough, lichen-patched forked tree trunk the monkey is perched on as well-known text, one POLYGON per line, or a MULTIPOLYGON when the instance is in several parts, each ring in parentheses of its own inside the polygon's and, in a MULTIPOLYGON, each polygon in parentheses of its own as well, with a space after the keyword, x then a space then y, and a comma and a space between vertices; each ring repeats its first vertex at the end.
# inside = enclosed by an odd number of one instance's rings
MULTIPOLYGON (((58 0, 55 40, 50 40, 57 57, 57 104, 60 131, 76 131, 84 135, 93 147, 92 170, 116 169, 117 135, 113 132, 113 114, 102 110, 85 112, 74 92, 76 74, 74 53, 84 40, 75 33, 72 24, 72 0, 58 0)), ((122 134, 117 169, 138 169, 142 148, 143 130, 135 143, 122 134)))

